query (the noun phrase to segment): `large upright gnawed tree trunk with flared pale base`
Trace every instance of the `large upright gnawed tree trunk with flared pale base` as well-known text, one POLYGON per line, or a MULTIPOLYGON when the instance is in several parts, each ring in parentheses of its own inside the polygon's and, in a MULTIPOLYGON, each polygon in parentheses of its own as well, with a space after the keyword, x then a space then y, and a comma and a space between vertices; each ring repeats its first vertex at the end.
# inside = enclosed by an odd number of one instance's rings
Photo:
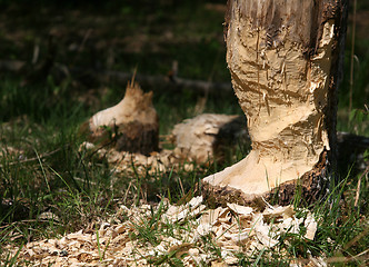
POLYGON ((228 1, 227 62, 252 150, 206 177, 209 202, 249 204, 297 181, 316 199, 335 170, 346 0, 228 1))

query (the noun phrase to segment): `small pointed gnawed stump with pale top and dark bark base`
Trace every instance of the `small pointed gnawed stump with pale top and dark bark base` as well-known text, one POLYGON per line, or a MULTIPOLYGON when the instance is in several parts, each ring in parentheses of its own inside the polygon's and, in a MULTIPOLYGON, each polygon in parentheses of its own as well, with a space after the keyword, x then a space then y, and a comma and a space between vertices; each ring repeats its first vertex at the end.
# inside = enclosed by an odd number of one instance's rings
POLYGON ((89 140, 113 144, 119 151, 149 155, 159 150, 159 117, 152 106, 152 91, 143 93, 134 81, 116 106, 93 115, 84 127, 89 140))

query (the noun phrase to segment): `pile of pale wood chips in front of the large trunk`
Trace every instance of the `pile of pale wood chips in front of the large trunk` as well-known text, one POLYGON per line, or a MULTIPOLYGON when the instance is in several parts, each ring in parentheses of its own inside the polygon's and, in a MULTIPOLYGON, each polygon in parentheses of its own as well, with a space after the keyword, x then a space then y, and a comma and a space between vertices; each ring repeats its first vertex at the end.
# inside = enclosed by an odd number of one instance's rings
MULTIPOLYGON (((121 206, 109 222, 99 222, 99 227, 27 244, 19 253, 18 263, 169 266, 170 260, 180 259, 184 266, 238 266, 237 254, 251 257, 262 250, 280 249, 279 238, 286 233, 313 239, 317 221, 312 214, 309 210, 298 214, 291 206, 269 207, 262 212, 236 204, 208 209, 202 197, 182 206, 166 200, 154 206, 121 206)), ((13 255, 17 251, 18 248, 12 248, 13 255)), ((276 251, 283 255, 282 250, 276 251)), ((268 257, 268 253, 262 257, 268 257)), ((326 266, 321 258, 311 257, 308 261, 312 261, 311 266, 326 266)), ((302 265, 295 260, 292 266, 302 265)))

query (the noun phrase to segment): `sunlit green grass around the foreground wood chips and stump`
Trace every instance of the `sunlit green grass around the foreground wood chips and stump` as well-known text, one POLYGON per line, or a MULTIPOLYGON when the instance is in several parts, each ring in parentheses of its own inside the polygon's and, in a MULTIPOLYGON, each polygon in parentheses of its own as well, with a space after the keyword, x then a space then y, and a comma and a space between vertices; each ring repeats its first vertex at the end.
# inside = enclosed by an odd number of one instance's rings
MULTIPOLYGON (((141 200, 159 201, 157 196, 177 202, 186 197, 187 191, 196 189, 201 177, 215 171, 216 167, 212 166, 193 171, 157 171, 153 176, 137 172, 133 177, 118 176, 111 171, 106 160, 79 151, 83 136, 78 135, 78 126, 88 115, 80 105, 60 101, 53 107, 38 106, 37 97, 24 96, 24 91, 8 81, 3 88, 7 87, 2 98, 14 93, 12 102, 24 106, 20 110, 14 108, 11 111, 11 119, 1 125, 0 131, 1 148, 9 151, 3 152, 0 162, 0 200, 3 202, 0 210, 1 249, 6 245, 58 237, 84 228, 92 221, 107 219, 118 210, 121 199, 124 199, 123 204, 127 206, 141 200), (48 109, 48 112, 44 112, 44 109, 48 109), (11 154, 11 148, 21 151, 11 154), (129 187, 130 182, 133 186, 129 187), (149 194, 142 195, 142 191, 149 194), (39 219, 46 211, 52 212, 57 219, 39 219)), ((159 110, 164 110, 170 101, 164 95, 161 96, 161 101, 159 110)), ((178 103, 177 117, 167 118, 167 129, 179 118, 190 116, 186 113, 190 110, 188 102, 191 102, 190 98, 178 103)), ((2 103, 7 105, 7 101, 2 103)), ((10 107, 12 105, 9 105, 10 107)), ((207 109, 211 110, 213 107, 209 105, 207 109)), ((228 164, 235 160, 230 158, 228 164)), ((293 240, 289 241, 292 245, 287 246, 281 239, 280 246, 286 246, 291 258, 307 257, 307 251, 312 255, 325 254, 328 258, 350 258, 366 250, 369 240, 362 233, 368 230, 368 180, 361 178, 360 200, 355 207, 357 182, 358 177, 348 175, 337 187, 332 187, 331 195, 325 201, 312 208, 319 219, 319 229, 313 241, 307 243, 299 237, 286 236, 286 240, 293 240), (358 240, 355 240, 356 238, 358 240)), ((160 243, 158 236, 163 233, 172 235, 173 230, 170 228, 173 226, 167 225, 167 228, 162 228, 157 224, 160 212, 159 209, 157 214, 152 214, 148 221, 137 221, 139 234, 131 238, 157 245, 160 243)), ((211 245, 211 239, 202 241, 209 253, 216 258, 219 257, 218 248, 211 245)), ((102 257, 103 251, 100 253, 102 257)), ((278 258, 278 251, 258 251, 255 258, 238 256, 240 265, 243 266, 255 263, 258 263, 258 266, 277 263, 282 266, 290 261, 289 258, 278 258), (263 255, 273 255, 276 260, 270 261, 270 258, 263 255)), ((170 255, 152 260, 152 264, 179 264, 178 258, 170 255)), ((346 264, 356 266, 362 264, 360 260, 346 264)))

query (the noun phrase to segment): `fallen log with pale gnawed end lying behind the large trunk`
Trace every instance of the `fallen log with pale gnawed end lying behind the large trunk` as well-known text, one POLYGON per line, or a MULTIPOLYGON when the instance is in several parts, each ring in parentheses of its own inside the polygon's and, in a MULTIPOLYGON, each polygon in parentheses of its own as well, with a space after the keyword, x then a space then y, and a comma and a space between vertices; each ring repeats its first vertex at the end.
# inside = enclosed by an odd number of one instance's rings
MULTIPOLYGON (((174 155, 186 161, 197 164, 225 162, 225 157, 235 156, 236 149, 247 151, 250 137, 245 116, 202 113, 186 119, 174 126, 170 140, 176 145, 174 155)), ((366 170, 369 160, 365 151, 369 149, 369 137, 349 132, 337 132, 338 175, 346 176, 366 170)))

